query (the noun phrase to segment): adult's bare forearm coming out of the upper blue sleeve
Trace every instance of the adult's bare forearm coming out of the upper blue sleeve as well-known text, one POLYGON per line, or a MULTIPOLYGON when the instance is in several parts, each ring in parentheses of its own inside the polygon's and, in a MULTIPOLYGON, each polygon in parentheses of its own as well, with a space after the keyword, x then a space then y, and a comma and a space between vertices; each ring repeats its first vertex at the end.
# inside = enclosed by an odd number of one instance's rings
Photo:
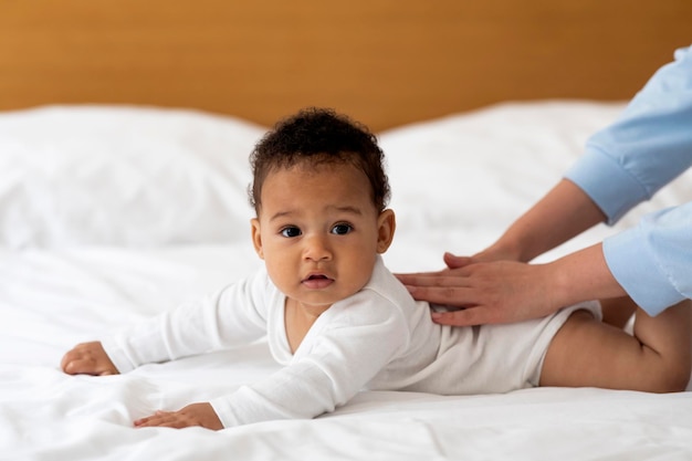
POLYGON ((483 253, 527 262, 605 219, 589 196, 563 179, 483 253))

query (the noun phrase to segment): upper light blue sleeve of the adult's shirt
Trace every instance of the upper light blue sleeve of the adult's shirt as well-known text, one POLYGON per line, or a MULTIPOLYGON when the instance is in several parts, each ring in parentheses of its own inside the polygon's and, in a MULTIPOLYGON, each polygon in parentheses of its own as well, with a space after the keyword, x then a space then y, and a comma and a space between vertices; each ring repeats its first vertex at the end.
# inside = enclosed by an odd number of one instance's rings
POLYGON ((691 165, 692 46, 678 50, 620 117, 591 136, 565 177, 615 223, 691 165))

